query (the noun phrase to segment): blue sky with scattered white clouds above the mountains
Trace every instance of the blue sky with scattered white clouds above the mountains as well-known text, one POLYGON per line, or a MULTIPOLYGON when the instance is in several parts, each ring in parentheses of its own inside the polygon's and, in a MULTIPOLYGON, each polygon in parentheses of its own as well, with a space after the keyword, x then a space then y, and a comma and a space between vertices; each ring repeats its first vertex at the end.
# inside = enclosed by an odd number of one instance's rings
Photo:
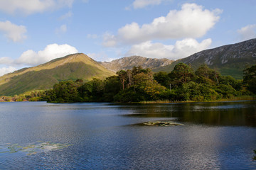
POLYGON ((0 0, 0 76, 77 52, 178 60, 252 38, 255 0, 0 0))

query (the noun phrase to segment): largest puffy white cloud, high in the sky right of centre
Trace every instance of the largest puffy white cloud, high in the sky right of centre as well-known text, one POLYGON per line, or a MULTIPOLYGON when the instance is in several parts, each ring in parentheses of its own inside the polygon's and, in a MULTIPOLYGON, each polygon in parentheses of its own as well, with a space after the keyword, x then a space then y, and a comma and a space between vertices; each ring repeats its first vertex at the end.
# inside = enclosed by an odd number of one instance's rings
POLYGON ((111 47, 118 43, 134 44, 149 40, 200 38, 218 22, 220 9, 209 11, 197 4, 183 4, 180 11, 169 11, 167 16, 155 18, 139 26, 130 23, 119 28, 117 35, 107 35, 102 45, 111 47))

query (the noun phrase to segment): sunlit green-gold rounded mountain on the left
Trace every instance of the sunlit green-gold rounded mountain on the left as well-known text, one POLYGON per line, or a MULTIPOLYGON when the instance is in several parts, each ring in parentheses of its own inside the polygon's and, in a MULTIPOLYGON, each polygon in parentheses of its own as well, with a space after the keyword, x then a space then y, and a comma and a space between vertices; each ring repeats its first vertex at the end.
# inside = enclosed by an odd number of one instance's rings
POLYGON ((78 53, 5 74, 0 77, 0 96, 51 89, 55 83, 68 79, 90 81, 94 77, 104 79, 112 75, 114 72, 102 67, 87 55, 78 53))

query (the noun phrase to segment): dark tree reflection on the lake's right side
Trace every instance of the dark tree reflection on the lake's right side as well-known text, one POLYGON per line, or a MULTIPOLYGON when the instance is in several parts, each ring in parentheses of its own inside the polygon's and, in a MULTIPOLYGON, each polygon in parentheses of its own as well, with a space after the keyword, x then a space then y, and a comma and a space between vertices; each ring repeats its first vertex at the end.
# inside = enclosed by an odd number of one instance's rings
POLYGON ((255 102, 171 103, 137 107, 127 116, 176 118, 186 123, 256 127, 255 102))

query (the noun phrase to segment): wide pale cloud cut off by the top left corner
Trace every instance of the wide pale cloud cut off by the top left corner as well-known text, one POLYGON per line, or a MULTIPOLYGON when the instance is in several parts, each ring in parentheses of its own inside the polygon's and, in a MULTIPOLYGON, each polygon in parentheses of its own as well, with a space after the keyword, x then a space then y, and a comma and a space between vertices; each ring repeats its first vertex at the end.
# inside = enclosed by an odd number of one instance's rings
POLYGON ((1 0, 0 11, 6 13, 21 13, 29 15, 31 13, 41 13, 56 8, 72 6, 74 0, 1 0))

